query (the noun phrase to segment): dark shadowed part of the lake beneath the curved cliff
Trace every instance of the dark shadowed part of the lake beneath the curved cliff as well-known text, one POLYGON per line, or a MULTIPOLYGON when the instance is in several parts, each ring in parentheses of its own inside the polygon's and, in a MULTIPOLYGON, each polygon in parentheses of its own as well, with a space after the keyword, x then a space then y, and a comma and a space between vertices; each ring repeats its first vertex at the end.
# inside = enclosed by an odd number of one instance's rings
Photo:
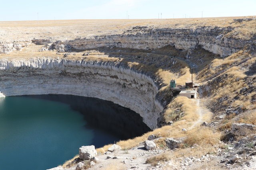
MULTIPOLYGON (((70 105, 73 110, 84 115, 87 122, 86 128, 92 129, 97 132, 96 134, 108 134, 108 136, 112 135, 120 140, 126 140, 150 131, 138 113, 106 100, 55 94, 28 95, 28 97, 70 105)), ((93 141, 92 145, 102 147, 103 141, 100 135, 95 135, 93 141)))

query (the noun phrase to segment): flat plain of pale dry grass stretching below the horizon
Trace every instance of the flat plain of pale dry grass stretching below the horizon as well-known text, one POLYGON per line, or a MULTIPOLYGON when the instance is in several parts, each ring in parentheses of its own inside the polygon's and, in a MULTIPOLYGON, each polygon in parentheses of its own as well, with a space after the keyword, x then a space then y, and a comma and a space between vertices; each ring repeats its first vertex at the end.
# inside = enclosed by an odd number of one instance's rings
POLYGON ((182 18, 182 19, 151 19, 151 20, 48 20, 48 21, 1 21, 3 41, 23 40, 28 37, 36 39, 74 39, 76 37, 90 37, 92 35, 121 34, 126 29, 135 26, 150 26, 158 28, 190 28, 234 27, 234 31, 226 35, 229 37, 250 39, 255 34, 256 20, 234 22, 242 17, 222 18, 182 18), (12 31, 9 31, 9 30, 12 31), (40 34, 42 33, 42 34, 40 34), (42 37, 40 37, 42 36, 42 37), (15 37, 15 38, 14 38, 15 37))

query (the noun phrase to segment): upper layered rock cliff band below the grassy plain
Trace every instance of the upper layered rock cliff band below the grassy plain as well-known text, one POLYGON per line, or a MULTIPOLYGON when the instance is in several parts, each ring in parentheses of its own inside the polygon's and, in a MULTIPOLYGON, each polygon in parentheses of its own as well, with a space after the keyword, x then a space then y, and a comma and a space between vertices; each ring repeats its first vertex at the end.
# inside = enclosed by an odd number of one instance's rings
POLYGON ((244 47, 248 41, 224 37, 228 28, 197 29, 146 29, 128 30, 122 35, 96 36, 93 38, 66 41, 66 50, 82 51, 98 47, 120 47, 131 49, 158 49, 173 45, 176 49, 188 50, 188 54, 199 45, 221 57, 226 57, 244 47), (144 31, 144 32, 143 32, 144 31))

